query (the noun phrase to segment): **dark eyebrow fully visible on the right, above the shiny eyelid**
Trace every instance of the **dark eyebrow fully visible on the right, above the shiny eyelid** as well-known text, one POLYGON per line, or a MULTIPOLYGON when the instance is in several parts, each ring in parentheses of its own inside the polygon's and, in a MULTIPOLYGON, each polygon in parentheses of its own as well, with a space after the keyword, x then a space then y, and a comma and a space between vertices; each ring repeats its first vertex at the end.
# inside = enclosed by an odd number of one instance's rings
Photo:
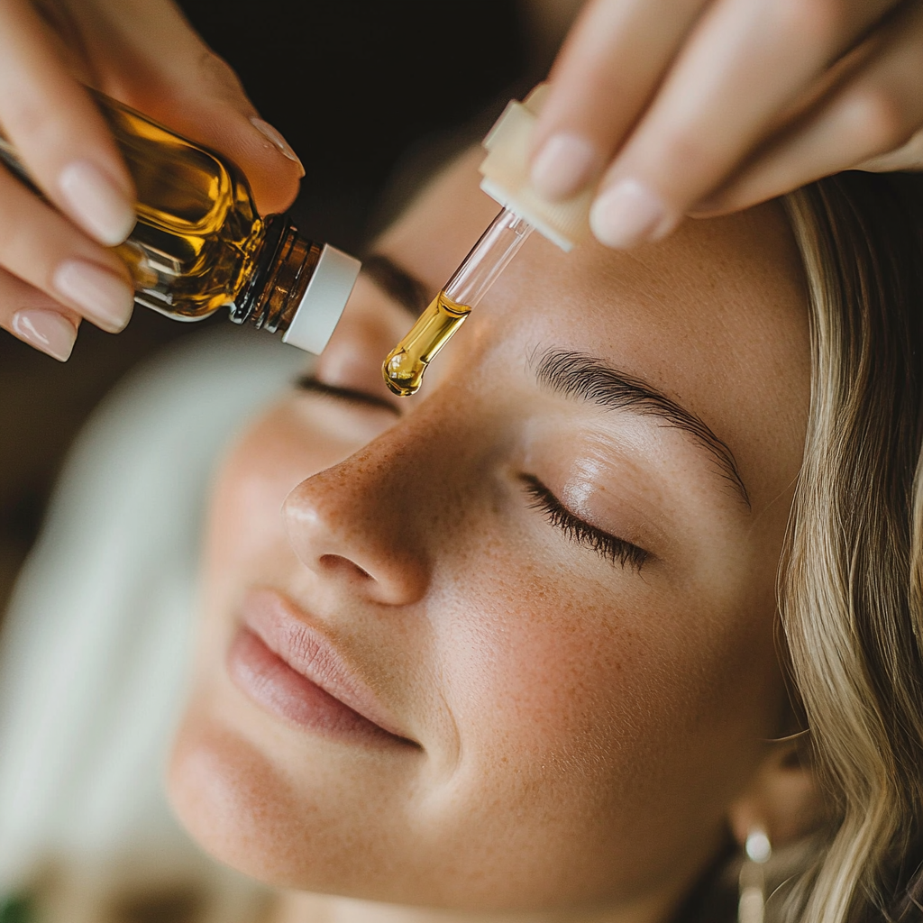
POLYGON ((606 366, 600 359, 585 353, 548 350, 535 361, 539 384, 565 397, 588 401, 608 410, 624 410, 638 416, 653 416, 665 426, 688 433, 701 446, 721 476, 737 489, 750 509, 749 495, 737 470, 734 453, 714 435, 700 417, 654 389, 641 378, 626 375, 606 366))

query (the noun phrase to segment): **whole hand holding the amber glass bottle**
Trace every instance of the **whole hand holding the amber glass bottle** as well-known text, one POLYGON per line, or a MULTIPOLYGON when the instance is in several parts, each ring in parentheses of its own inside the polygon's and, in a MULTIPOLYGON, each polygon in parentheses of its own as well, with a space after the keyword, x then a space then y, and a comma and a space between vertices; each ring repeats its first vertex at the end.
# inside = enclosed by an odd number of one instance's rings
POLYGON ((122 330, 133 302, 109 248, 135 190, 83 84, 226 154, 263 212, 304 172, 170 0, 0 0, 0 130, 45 198, 0 167, 0 327, 62 361, 82 318, 122 330))

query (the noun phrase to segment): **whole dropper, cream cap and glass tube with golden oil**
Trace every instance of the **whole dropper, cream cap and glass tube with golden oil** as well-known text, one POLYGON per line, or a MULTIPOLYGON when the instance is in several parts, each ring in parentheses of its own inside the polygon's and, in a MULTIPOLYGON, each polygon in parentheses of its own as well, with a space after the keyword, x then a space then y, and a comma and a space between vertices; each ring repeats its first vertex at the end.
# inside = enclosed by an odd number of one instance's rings
POLYGON ((426 366, 462 326, 533 230, 564 251, 586 235, 589 191, 566 202, 552 203, 539 198, 529 186, 529 135, 544 90, 538 87, 524 102, 510 102, 484 140, 488 154, 481 164, 481 188, 503 209, 412 330, 385 359, 381 368, 385 383, 401 397, 420 389, 426 366))

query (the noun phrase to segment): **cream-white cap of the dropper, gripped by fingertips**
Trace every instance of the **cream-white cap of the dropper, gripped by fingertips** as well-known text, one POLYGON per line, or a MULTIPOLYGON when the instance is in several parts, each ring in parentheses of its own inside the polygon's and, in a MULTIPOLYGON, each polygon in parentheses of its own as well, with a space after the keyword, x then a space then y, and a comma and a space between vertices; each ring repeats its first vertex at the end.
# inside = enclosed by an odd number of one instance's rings
POLYGON ((593 190, 585 189, 573 198, 551 202, 530 183, 529 147, 547 90, 545 84, 539 84, 522 102, 510 102, 487 133, 481 188, 567 252, 590 235, 593 190))

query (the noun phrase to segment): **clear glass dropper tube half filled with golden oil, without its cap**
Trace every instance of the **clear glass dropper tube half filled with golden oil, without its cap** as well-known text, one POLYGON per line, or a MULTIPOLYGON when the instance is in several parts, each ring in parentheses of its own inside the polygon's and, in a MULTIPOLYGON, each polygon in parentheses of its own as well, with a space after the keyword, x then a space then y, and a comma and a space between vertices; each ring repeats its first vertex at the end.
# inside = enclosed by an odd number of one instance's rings
POLYGON ((401 397, 420 390, 426 366, 462 326, 532 232, 533 226, 509 209, 501 210, 490 222, 449 282, 385 359, 381 371, 390 390, 401 397))

